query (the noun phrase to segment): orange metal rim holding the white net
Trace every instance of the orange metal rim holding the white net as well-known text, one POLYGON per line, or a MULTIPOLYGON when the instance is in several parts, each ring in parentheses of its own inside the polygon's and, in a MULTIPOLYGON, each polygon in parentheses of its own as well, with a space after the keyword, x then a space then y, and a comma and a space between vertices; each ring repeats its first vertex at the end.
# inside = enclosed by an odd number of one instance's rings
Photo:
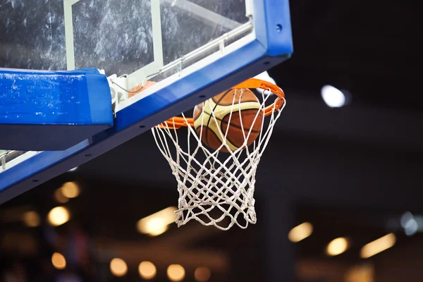
MULTIPOLYGON (((261 88, 262 90, 269 90, 277 96, 274 104, 271 104, 264 108, 264 116, 270 116, 274 113, 274 111, 281 109, 281 106, 283 105, 283 103, 285 103, 285 93, 283 93, 283 90, 281 90, 280 87, 274 85, 273 83, 264 80, 259 80, 257 78, 250 78, 249 80, 245 80, 244 82, 241 82, 240 84, 231 87, 231 89, 241 88, 261 88)), ((193 118, 183 118, 181 116, 174 116, 173 118, 169 118, 167 121, 164 121, 163 123, 157 125, 157 127, 179 129, 181 127, 188 127, 188 125, 194 126, 193 118)))

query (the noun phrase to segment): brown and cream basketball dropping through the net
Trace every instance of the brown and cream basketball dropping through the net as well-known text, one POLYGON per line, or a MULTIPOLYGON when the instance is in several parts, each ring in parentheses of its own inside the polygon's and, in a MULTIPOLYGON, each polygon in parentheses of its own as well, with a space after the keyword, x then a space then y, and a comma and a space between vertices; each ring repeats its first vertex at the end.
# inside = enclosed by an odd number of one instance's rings
MULTIPOLYGON (((247 146, 257 139, 263 118, 259 99, 247 88, 222 92, 195 106, 193 114, 195 131, 204 145, 219 149, 228 130, 226 145, 231 151, 243 147, 245 139, 247 146)), ((223 146, 220 151, 228 152, 228 149, 223 146)))

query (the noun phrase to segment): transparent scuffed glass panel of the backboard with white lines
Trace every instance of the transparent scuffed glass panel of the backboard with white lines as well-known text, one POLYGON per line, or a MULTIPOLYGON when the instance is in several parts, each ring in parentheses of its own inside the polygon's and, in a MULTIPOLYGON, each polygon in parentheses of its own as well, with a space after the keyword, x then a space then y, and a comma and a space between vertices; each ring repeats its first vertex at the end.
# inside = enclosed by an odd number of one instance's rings
POLYGON ((0 6, 2 67, 99 68, 128 74, 133 84, 161 80, 219 50, 222 39, 227 46, 252 33, 245 0, 1 0, 0 6))

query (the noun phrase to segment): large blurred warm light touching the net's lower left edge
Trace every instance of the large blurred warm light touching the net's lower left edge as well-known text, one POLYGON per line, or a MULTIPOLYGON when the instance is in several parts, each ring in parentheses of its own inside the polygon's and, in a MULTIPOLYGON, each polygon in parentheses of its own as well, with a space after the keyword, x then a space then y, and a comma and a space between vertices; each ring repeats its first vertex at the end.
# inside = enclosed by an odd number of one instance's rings
POLYGON ((140 219, 137 222, 138 232, 152 236, 157 236, 166 232, 168 230, 168 225, 176 220, 176 210, 176 207, 168 207, 144 219, 140 219))

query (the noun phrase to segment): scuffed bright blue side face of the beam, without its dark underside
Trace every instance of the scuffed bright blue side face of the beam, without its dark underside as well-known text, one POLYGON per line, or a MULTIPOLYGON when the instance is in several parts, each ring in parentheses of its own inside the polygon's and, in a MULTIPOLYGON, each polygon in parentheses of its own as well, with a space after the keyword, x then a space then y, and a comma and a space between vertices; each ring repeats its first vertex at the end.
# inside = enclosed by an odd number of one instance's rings
POLYGON ((95 69, 26 71, 0 68, 1 124, 109 124, 109 83, 95 69))

